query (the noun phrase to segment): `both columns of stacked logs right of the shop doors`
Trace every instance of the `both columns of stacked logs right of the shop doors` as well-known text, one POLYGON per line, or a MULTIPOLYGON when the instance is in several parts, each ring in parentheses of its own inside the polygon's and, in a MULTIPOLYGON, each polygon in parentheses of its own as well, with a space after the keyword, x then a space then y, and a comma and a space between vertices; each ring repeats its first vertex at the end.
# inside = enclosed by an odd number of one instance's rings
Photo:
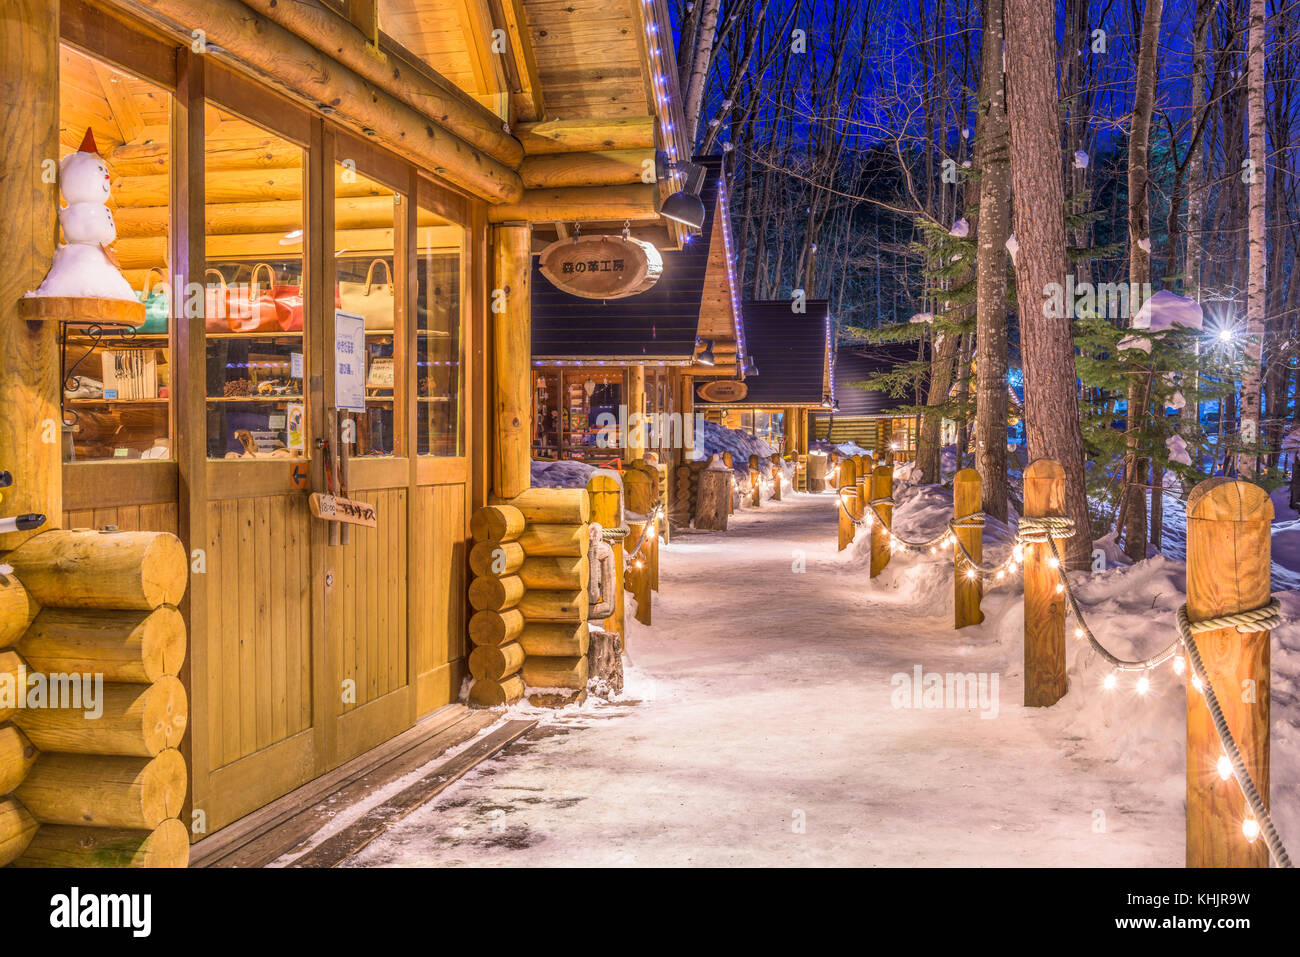
POLYGON ((582 489, 528 489, 472 516, 471 706, 585 698, 589 519, 582 489))

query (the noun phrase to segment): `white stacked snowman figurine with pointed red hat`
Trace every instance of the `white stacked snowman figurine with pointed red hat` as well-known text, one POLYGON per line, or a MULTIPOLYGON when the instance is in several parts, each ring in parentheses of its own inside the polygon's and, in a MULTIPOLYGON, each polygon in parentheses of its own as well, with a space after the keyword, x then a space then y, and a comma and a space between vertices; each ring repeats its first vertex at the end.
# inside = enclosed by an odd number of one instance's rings
POLYGON ((136 300, 135 291, 117 267, 109 246, 117 239, 109 196, 108 166, 87 129, 81 150, 58 164, 58 189, 68 203, 58 211, 65 243, 55 250, 55 261, 38 296, 136 300))

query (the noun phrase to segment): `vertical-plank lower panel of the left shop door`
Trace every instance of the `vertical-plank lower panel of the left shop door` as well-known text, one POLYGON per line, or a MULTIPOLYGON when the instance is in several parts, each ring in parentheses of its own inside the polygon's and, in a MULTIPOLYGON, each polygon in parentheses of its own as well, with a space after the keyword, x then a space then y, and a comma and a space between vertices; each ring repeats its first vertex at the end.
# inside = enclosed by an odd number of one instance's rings
POLYGON ((303 495, 208 506, 208 715, 222 767, 311 727, 311 512, 303 495))

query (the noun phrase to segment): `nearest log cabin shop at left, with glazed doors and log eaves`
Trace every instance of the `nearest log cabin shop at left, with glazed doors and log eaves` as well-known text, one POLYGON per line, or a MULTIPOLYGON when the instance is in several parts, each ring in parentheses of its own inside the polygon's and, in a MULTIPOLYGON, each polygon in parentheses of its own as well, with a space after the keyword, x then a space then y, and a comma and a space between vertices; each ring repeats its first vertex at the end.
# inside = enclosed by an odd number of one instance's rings
MULTIPOLYGON (((18 558, 49 529, 179 540, 185 596, 150 601, 187 638, 183 739, 157 746, 185 761, 190 841, 460 697, 471 518, 529 486, 533 254, 575 222, 668 256, 693 238, 659 213, 688 148, 660 36, 664 0, 4 4, 0 468, 5 514, 47 523, 0 559, 35 581, 18 558), (87 130, 138 329, 20 311, 87 130), (329 493, 373 527, 315 515, 329 493)), ((719 229, 693 239, 710 269, 719 229)), ((40 603, 20 607, 0 653, 40 603)), ((84 844, 5 807, 0 863, 35 824, 84 844)))

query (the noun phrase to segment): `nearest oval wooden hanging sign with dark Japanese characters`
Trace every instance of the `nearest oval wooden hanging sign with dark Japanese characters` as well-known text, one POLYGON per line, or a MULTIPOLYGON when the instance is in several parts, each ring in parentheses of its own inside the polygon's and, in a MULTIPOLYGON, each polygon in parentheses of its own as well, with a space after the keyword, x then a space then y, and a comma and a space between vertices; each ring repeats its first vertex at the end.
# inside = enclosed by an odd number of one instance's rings
POLYGON ((624 299, 645 293, 663 274, 663 256, 651 243, 620 235, 559 239, 537 257, 556 289, 584 299, 624 299))

